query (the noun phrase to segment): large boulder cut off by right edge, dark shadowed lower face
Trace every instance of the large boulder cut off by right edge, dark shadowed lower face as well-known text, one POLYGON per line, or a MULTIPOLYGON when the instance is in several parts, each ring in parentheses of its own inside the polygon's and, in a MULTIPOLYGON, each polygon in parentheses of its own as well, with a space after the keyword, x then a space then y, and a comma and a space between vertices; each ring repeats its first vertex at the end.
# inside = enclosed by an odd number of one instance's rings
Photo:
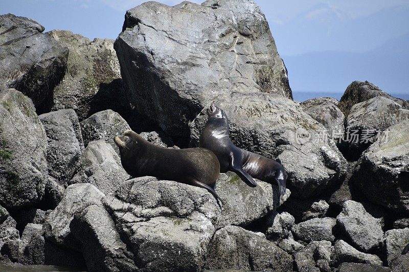
POLYGON ((368 200, 405 214, 409 213, 407 135, 409 120, 392 125, 362 154, 351 177, 368 200))

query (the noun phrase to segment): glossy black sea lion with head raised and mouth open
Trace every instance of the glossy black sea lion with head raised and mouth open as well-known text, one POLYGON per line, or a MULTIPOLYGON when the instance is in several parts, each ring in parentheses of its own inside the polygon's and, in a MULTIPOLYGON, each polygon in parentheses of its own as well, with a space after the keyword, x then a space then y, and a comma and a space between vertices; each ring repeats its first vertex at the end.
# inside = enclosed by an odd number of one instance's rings
POLYGON ((216 154, 220 172, 233 171, 251 186, 257 186, 253 177, 268 183, 277 182, 280 194, 284 195, 287 173, 283 165, 236 147, 230 140, 229 119, 222 109, 212 105, 207 109, 207 114, 209 119, 200 135, 199 147, 216 154))

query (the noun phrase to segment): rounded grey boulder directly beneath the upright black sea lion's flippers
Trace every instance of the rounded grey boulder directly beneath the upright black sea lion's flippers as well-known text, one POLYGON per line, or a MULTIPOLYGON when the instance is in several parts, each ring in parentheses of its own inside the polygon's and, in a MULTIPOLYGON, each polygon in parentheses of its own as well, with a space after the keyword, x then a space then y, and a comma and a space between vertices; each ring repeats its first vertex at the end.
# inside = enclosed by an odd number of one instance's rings
MULTIPOLYGON (((278 186, 256 181, 257 187, 250 187, 235 173, 220 174, 216 180, 216 193, 223 200, 223 208, 216 224, 217 228, 228 225, 245 226, 276 210, 281 204, 278 186)), ((290 192, 281 200, 288 198, 290 192)))

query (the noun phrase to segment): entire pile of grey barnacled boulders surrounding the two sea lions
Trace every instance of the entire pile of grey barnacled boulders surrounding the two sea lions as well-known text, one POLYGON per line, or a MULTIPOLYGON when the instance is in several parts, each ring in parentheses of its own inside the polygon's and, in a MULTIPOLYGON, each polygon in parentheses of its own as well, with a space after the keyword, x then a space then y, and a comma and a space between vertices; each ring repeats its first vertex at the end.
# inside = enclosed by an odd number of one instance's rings
POLYGON ((43 31, 0 15, 4 267, 409 267, 401 254, 409 101, 368 81, 352 82, 339 101, 293 101, 265 16, 250 0, 147 2, 126 12, 116 41, 43 31), (237 147, 284 166, 284 196, 228 172, 216 182, 220 208, 205 189, 125 172, 114 136, 132 129, 161 147, 197 147, 211 102, 228 114, 237 147))

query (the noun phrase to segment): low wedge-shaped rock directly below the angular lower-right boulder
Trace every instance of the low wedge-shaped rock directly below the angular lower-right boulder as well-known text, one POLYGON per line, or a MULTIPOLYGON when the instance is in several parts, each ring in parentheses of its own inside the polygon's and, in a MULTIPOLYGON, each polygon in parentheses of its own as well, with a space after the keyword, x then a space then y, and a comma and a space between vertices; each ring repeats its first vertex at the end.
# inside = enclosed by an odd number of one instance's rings
POLYGON ((331 262, 333 266, 348 262, 382 265, 382 261, 378 256, 359 252, 343 240, 337 240, 335 242, 334 250, 331 255, 331 262))

